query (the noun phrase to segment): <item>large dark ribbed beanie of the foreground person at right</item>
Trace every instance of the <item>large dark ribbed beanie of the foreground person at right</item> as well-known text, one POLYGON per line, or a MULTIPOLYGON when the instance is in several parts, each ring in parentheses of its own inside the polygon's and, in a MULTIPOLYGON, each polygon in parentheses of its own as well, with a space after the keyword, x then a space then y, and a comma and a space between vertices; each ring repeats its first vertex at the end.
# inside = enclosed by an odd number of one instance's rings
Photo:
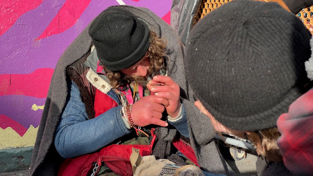
POLYGON ((223 125, 240 131, 276 126, 304 93, 310 32, 277 3, 236 0, 192 29, 186 77, 203 106, 223 125))

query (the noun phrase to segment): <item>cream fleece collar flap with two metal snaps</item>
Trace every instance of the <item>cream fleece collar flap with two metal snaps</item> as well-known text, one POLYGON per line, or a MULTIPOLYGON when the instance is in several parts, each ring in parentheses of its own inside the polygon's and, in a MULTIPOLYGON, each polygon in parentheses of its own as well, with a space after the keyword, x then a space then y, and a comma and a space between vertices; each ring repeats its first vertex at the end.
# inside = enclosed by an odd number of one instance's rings
POLYGON ((102 93, 107 94, 112 86, 103 80, 98 74, 96 74, 93 70, 89 69, 86 74, 87 80, 95 86, 95 88, 99 89, 102 93))

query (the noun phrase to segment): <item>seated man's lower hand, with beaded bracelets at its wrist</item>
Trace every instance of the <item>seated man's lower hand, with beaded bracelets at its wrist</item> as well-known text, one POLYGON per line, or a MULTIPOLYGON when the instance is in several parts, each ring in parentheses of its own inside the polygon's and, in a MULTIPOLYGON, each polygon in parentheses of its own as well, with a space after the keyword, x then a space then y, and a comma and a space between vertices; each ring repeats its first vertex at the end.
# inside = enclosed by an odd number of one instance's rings
POLYGON ((133 104, 131 118, 135 125, 145 127, 150 124, 166 127, 167 122, 160 120, 164 106, 168 106, 167 99, 156 96, 145 96, 133 104))

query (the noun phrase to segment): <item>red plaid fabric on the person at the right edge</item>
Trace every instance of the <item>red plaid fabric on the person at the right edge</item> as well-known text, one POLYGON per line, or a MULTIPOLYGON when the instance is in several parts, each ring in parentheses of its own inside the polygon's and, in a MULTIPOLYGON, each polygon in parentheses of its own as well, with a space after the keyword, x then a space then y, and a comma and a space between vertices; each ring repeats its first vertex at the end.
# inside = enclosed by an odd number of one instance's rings
POLYGON ((289 106, 277 120, 277 143, 286 168, 297 175, 313 173, 313 89, 289 106))

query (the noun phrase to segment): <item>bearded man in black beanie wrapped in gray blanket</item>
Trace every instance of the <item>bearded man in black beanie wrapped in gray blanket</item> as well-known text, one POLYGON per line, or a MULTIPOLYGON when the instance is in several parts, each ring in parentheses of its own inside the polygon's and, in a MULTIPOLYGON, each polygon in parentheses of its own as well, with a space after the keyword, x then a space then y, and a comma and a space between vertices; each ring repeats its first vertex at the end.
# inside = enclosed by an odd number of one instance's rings
MULTIPOLYGON (((177 152, 173 139, 177 146, 186 145, 179 140, 189 137, 186 112, 193 116, 197 108, 185 106, 193 101, 184 76, 184 50, 174 30, 147 8, 112 6, 100 13, 54 70, 31 175, 85 175, 84 167, 102 163, 95 160, 108 146, 115 148, 110 158, 126 151, 113 144, 152 146, 156 158, 177 152)), ((214 173, 228 173, 211 146, 214 173)))

